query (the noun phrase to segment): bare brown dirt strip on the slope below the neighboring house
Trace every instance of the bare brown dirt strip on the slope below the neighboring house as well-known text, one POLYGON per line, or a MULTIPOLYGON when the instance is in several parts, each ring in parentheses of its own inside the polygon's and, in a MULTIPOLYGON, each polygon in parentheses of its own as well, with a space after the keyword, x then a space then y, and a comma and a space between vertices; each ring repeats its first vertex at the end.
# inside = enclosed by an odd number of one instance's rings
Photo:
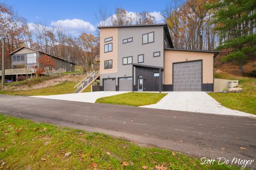
MULTIPOLYGON (((60 77, 56 77, 50 80, 46 80, 43 81, 41 83, 38 84, 34 84, 33 86, 19 86, 19 87, 15 87, 15 89, 13 89, 13 87, 9 90, 31 90, 31 89, 41 89, 41 88, 45 88, 45 87, 50 87, 50 86, 55 86, 57 84, 61 84, 63 82, 66 81, 73 81, 73 82, 79 82, 81 81, 83 78, 85 78, 86 75, 85 74, 69 74, 69 75, 63 75, 60 77)), ((6 89, 5 89, 6 90, 6 89)))

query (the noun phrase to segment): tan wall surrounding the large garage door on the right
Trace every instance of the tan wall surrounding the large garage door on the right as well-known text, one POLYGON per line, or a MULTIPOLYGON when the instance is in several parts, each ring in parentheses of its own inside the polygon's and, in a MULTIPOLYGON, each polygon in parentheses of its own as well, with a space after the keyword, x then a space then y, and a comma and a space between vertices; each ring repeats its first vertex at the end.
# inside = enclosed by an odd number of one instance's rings
POLYGON ((203 83, 213 83, 213 53, 165 50, 164 84, 172 84, 172 63, 203 60, 203 83))

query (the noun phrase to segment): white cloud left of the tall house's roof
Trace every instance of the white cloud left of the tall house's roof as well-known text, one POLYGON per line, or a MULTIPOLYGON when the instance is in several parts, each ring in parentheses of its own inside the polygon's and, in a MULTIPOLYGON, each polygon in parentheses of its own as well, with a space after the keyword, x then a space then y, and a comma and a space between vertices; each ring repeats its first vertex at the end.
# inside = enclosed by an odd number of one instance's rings
POLYGON ((52 21, 51 25, 53 27, 57 27, 58 25, 61 25, 61 27, 65 31, 68 31, 73 36, 80 35, 82 32, 92 33, 96 30, 90 22, 87 22, 81 19, 72 19, 72 20, 66 19, 66 20, 52 21))

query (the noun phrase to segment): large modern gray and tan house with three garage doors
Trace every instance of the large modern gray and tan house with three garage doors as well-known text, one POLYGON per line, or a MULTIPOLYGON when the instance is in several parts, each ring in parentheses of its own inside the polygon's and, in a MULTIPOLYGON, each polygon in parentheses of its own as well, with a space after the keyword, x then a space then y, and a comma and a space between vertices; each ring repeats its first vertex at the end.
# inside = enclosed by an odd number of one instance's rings
POLYGON ((100 29, 103 91, 213 91, 218 52, 174 49, 164 24, 100 29))

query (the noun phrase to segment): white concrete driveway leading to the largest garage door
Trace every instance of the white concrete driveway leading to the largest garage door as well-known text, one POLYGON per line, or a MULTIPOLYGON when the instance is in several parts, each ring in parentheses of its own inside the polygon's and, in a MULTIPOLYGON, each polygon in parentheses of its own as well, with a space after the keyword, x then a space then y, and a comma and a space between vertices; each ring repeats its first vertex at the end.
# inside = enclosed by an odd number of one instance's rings
POLYGON ((164 93, 167 93, 168 95, 166 95, 158 103, 141 107, 173 111, 256 117, 256 115, 253 114, 226 108, 204 91, 170 91, 164 93))

